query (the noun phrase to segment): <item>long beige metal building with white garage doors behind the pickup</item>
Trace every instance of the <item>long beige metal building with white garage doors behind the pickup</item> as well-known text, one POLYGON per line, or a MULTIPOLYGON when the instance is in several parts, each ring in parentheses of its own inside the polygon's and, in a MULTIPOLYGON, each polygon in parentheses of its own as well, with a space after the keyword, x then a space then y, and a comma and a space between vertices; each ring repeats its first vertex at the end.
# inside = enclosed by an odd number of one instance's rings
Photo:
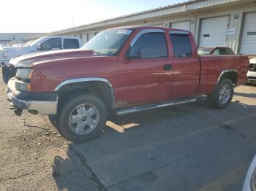
POLYGON ((134 25, 181 28, 192 31, 199 47, 227 46, 236 53, 256 55, 255 0, 192 0, 49 35, 79 36, 86 43, 106 28, 134 25))

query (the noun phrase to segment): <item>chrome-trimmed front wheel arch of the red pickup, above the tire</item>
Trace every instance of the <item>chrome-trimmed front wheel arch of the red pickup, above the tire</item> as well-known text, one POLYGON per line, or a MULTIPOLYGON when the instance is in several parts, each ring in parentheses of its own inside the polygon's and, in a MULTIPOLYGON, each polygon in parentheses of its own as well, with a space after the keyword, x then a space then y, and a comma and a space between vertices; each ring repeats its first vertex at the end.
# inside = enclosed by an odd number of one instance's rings
POLYGON ((58 94, 71 93, 74 91, 89 92, 102 98, 110 109, 116 107, 113 85, 105 78, 89 77, 79 79, 68 79, 61 82, 53 90, 58 94))

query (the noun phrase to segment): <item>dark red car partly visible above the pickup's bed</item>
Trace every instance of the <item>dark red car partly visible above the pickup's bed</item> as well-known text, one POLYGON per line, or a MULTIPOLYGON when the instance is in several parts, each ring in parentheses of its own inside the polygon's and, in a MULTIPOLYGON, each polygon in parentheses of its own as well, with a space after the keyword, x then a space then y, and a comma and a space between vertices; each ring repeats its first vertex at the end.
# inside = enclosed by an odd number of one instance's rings
POLYGON ((235 55, 230 47, 200 47, 199 55, 235 55))

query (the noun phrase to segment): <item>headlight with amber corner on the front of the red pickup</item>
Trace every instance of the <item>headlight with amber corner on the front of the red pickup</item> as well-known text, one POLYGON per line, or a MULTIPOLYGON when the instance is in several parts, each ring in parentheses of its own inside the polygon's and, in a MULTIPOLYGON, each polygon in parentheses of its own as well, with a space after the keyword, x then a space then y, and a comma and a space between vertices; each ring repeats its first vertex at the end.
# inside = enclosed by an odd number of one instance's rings
POLYGON ((15 82, 15 87, 17 90, 20 91, 30 91, 31 84, 30 79, 33 74, 33 69, 18 69, 16 72, 16 78, 18 79, 15 82))

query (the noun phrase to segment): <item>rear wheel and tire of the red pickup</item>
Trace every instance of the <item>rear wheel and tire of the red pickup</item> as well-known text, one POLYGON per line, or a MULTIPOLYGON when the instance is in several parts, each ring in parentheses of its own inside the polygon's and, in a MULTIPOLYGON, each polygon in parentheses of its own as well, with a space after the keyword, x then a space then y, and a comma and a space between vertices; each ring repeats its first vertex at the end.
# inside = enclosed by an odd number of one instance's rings
POLYGON ((224 109, 230 105, 234 95, 234 85, 230 79, 224 78, 217 85, 214 93, 210 95, 211 106, 224 109))

